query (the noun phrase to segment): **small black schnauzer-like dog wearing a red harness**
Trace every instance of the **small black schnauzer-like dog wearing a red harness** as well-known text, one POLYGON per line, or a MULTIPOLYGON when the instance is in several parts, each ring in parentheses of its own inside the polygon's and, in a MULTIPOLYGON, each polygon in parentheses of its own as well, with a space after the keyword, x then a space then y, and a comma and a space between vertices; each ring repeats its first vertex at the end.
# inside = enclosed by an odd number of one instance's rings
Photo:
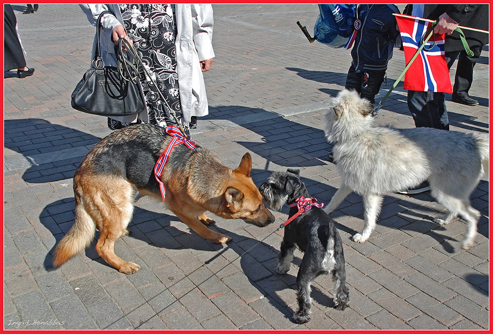
POLYGON ((299 310, 293 315, 296 323, 303 324, 310 321, 311 284, 318 275, 332 273, 336 287, 334 304, 337 310, 349 306, 349 290, 346 286, 341 236, 327 213, 312 204, 310 208, 306 207, 304 214, 299 214, 289 222, 298 213, 298 206, 303 206, 297 205, 297 202, 311 199, 299 175, 298 169, 274 172, 267 182, 260 185, 259 190, 265 202, 274 210, 279 210, 286 203, 290 207, 276 273, 287 273, 296 246, 305 253, 296 277, 299 310))

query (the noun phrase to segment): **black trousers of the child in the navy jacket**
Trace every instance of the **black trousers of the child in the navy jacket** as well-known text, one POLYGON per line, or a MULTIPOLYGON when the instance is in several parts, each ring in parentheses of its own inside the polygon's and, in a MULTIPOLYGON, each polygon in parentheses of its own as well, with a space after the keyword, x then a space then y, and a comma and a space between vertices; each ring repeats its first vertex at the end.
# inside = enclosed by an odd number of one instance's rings
POLYGON ((375 103, 375 95, 380 91, 384 78, 385 71, 356 72, 354 66, 351 65, 346 79, 346 89, 357 91, 359 96, 375 103))

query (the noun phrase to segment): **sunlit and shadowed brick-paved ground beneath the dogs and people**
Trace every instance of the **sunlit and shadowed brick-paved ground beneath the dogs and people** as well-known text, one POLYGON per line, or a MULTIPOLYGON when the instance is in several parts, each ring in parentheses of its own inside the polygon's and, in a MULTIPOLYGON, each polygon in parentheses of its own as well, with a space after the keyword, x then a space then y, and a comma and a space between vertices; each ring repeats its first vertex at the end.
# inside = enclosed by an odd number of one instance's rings
MULTIPOLYGON (((55 243, 73 223, 74 170, 110 133, 105 118, 70 107, 70 93, 89 68, 95 29, 76 4, 41 4, 31 15, 22 15, 25 4, 13 8, 35 74, 4 75, 4 329, 489 329, 487 181, 472 194, 482 216, 469 250, 460 248, 464 221, 446 227, 432 222, 443 207, 429 193, 389 194, 371 238, 354 243, 363 205, 359 195, 350 195, 332 217, 344 242, 351 307, 333 309, 333 283, 319 276, 313 317, 304 325, 292 321, 302 254, 295 252, 286 275, 274 273, 283 232, 272 232, 287 218, 285 208, 264 228, 216 218, 213 229, 233 238, 223 248, 144 197, 131 235, 115 244, 140 272, 108 267, 94 243, 53 270, 55 243)), ((326 160, 331 146, 322 131, 324 108, 344 87, 349 52, 308 43, 296 21, 310 31, 314 4, 213 9, 217 57, 205 74, 210 115, 199 120, 193 139, 230 167, 250 152, 257 185, 272 171, 299 168, 311 194, 327 203, 340 178, 326 160)), ((395 49, 377 101, 403 68, 403 53, 395 49)), ((488 92, 486 46, 470 90, 480 105, 446 97, 453 130, 489 132, 488 92)), ((377 122, 414 127, 402 83, 377 122)))

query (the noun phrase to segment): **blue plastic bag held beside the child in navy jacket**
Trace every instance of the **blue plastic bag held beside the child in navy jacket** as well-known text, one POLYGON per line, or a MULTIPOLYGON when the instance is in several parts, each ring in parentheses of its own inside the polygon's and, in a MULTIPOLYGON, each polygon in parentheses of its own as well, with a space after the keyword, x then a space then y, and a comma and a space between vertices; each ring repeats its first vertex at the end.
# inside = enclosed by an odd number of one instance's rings
POLYGON ((319 4, 314 37, 332 48, 344 47, 352 34, 355 4, 319 4))

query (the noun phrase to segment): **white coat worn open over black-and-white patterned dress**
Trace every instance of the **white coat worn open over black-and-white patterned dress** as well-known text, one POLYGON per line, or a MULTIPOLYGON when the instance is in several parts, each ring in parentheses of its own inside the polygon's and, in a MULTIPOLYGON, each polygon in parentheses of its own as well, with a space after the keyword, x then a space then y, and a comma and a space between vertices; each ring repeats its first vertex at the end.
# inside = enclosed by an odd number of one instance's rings
MULTIPOLYGON (((118 4, 80 4, 89 22, 96 26, 100 13, 109 10, 102 19, 101 56, 106 65, 116 66, 115 44, 111 41, 111 33, 118 25, 123 25, 118 4)), ((213 14, 211 4, 175 5, 176 17, 176 72, 184 121, 189 122, 191 116, 209 114, 206 87, 202 75, 200 61, 214 58, 212 50, 213 14)), ((93 45, 93 59, 96 49, 96 36, 93 45)), ((114 117, 122 122, 135 121, 137 118, 148 122, 147 111, 138 115, 114 117)))

